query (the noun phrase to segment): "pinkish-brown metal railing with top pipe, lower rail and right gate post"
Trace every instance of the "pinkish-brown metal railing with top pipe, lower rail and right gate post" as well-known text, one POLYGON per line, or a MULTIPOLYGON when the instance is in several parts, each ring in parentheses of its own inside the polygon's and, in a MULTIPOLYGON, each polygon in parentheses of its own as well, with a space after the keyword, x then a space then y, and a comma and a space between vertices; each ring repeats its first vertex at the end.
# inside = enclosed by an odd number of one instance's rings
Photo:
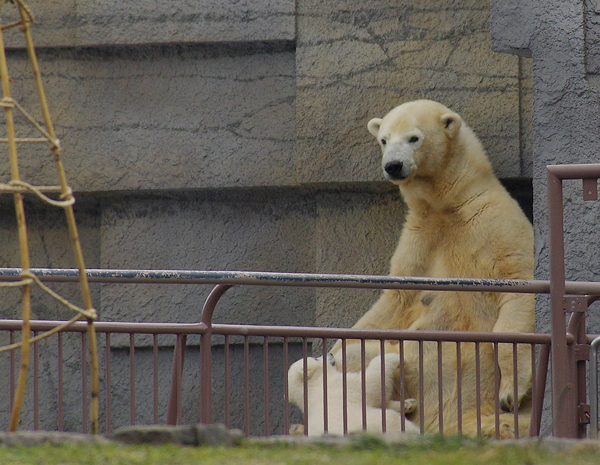
MULTIPOLYGON (((433 341, 458 343, 489 344, 530 344, 532 353, 535 345, 540 347, 536 376, 533 381, 534 414, 531 432, 539 429, 541 399, 545 385, 548 352, 552 359, 552 417, 553 433, 562 437, 584 437, 587 424, 590 423, 590 405, 586 393, 586 362, 589 358, 591 337, 585 333, 585 312, 589 305, 600 295, 598 282, 568 282, 564 272, 564 237, 562 181, 565 179, 583 179, 584 199, 597 198, 597 179, 600 177, 600 165, 570 165, 548 167, 548 204, 550 224, 550 280, 490 280, 490 279, 439 279, 420 277, 389 276, 347 276, 329 274, 298 273, 261 273, 261 272, 209 272, 209 271, 173 271, 173 270, 88 270, 90 282, 101 283, 164 283, 164 284, 215 284, 203 309, 200 322, 188 325, 149 325, 134 323, 98 323, 98 331, 106 331, 107 337, 113 329, 116 332, 131 331, 149 334, 177 334, 172 364, 172 382, 167 409, 167 422, 175 423, 182 412, 182 370, 186 350, 186 337, 189 334, 200 335, 200 419, 211 422, 212 387, 211 379, 212 344, 214 336, 224 338, 240 336, 244 344, 248 337, 301 338, 306 346, 307 338, 325 342, 334 338, 379 339, 397 341, 433 341), (552 331, 543 334, 498 334, 474 332, 409 332, 409 331, 365 331, 330 328, 295 328, 270 326, 241 326, 212 324, 212 315, 220 297, 232 286, 290 286, 290 287, 341 287, 368 289, 416 289, 436 291, 464 292, 511 292, 511 293, 549 293, 551 301, 552 331), (566 314, 571 317, 566 320, 566 314), (103 326, 108 325, 108 326, 103 326), (113 326, 117 325, 117 326, 113 326), (118 326, 125 325, 125 326, 118 326), (121 329, 118 329, 121 328, 121 329), (143 329, 142 329, 143 328, 143 329), (536 406, 537 405, 537 406, 536 406)), ((77 270, 31 269, 42 281, 70 282, 78 280, 77 270)), ((10 281, 19 278, 20 269, 0 269, 0 280, 10 281)), ((12 322, 18 325, 17 322, 12 322)), ((38 324, 38 322, 35 322, 38 324)), ((42 323, 39 323, 43 326, 42 323)), ((47 323, 51 324, 51 323, 47 323)), ((70 331, 80 331, 80 325, 74 325, 70 331)), ((32 324, 32 328, 33 328, 32 324)), ((0 325, 0 329, 6 329, 0 325)), ((133 340, 133 336, 130 336, 133 340)), ((227 344, 225 344, 227 345, 227 344)), ((107 343, 107 360, 110 358, 110 341, 107 343)), ((459 349, 457 349, 459 350, 459 349)), ((135 348, 130 354, 134 357, 135 348)), ((288 357, 284 354, 284 358, 288 357)), ((248 360, 246 360, 248 362, 248 360)), ((440 362, 441 363, 441 362, 440 362)), ((246 363, 246 367, 248 364, 246 363)), ((247 370, 247 368, 246 368, 247 370)), ((265 370, 268 373, 268 369, 265 370)), ((265 375, 266 376, 266 375, 265 375)), ((85 378, 85 377, 84 377, 85 378)), ((247 378, 247 377, 246 377, 247 378)), ((496 381, 497 383, 497 378, 496 381)), ((265 381, 265 385, 266 385, 265 381)), ((248 388, 245 388, 248 389, 248 388)), ((132 391, 135 393, 135 391, 132 391)), ((593 393, 595 394, 595 393, 593 393)), ((515 396, 517 392, 515 392, 515 396)), ((267 393, 268 397, 268 393, 267 393)), ((441 400, 441 397, 440 397, 441 400)), ((227 401, 225 401, 227 405, 227 401)), ((135 405, 135 400, 132 401, 135 405)), ((248 408, 248 407, 246 407, 248 408)), ((287 409, 287 402, 286 407, 287 409)), ((498 406, 496 403, 496 412, 498 406)), ((498 416, 498 413, 496 413, 498 416)), ((133 415, 132 415, 133 417, 133 415)), ((592 417, 594 420, 595 418, 592 417)), ((287 420, 284 420, 287 421, 287 420)), ((268 420, 266 420, 269 423, 268 420)), ((515 414, 515 423, 517 416, 515 414)), ((85 423, 85 422, 84 422, 85 423)), ((459 422, 460 423, 460 422, 459 422)), ((498 423, 498 421, 496 421, 498 423)), ((423 429, 423 425, 421 425, 423 429)), ((443 425, 440 422, 440 429, 443 425)), ((496 434, 498 427, 496 427, 496 434)), ((518 434, 518 432, 517 432, 518 434)))

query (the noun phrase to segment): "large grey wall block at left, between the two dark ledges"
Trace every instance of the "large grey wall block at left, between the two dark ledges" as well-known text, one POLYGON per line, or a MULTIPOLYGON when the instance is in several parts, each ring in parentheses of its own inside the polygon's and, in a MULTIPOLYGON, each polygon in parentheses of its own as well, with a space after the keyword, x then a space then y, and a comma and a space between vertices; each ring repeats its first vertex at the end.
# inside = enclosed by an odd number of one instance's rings
MULTIPOLYGON (((26 57, 11 58, 13 95, 37 114, 26 57)), ((293 182, 294 56, 285 47, 52 50, 40 61, 76 192, 293 182)), ((22 176, 55 183, 40 150, 22 148, 22 176)))

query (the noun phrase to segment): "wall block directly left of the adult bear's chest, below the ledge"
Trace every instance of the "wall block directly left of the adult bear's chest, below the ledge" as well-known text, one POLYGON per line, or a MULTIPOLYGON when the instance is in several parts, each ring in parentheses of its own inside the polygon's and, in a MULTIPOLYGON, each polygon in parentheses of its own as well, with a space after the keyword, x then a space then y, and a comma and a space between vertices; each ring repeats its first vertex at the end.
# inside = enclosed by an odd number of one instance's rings
MULTIPOLYGON (((320 273, 389 273, 404 220, 398 190, 324 192, 317 203, 316 269, 320 273)), ((315 323, 350 327, 379 297, 366 289, 318 289, 315 323), (332 311, 335 309, 335 311, 332 311)))

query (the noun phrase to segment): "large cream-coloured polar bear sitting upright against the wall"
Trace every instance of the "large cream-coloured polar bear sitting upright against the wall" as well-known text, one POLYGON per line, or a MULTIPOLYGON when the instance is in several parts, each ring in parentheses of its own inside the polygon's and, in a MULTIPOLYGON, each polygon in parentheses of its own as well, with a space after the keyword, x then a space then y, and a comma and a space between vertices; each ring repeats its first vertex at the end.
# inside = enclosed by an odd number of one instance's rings
MULTIPOLYGON (((399 244, 391 259, 392 276, 533 279, 533 229, 517 202, 495 177, 483 146, 461 117, 430 100, 408 102, 374 118, 368 129, 383 152, 384 176, 397 184, 408 207, 399 244)), ((385 290, 355 328, 533 332, 531 294, 385 290)), ((359 344, 348 344, 349 369, 358 369, 359 344), (351 347, 354 346, 355 350, 351 347)), ((353 341, 352 341, 353 342, 353 341)), ((332 349, 340 363, 340 341, 332 349)), ((379 343, 367 344, 367 363, 379 343)), ((500 373, 502 409, 514 409, 530 390, 531 349, 500 344, 498 362, 491 344, 461 345, 461 399, 457 392, 456 344, 404 342, 408 397, 423 395, 426 430, 476 433, 478 408, 484 435, 495 412, 494 367, 500 373), (439 350, 438 350, 439 349, 439 350), (419 392, 419 351, 423 353, 423 393, 419 392), (439 351, 442 372, 438 372, 439 351), (513 376, 513 358, 518 376, 513 376), (475 365, 481 367, 481 405, 477 405, 475 365), (438 385, 441 378, 443 387, 438 385), (440 391, 443 409, 439 410, 440 391), (461 401, 462 416, 457 413, 461 401), (488 417, 486 417, 486 415, 488 417)), ((387 349, 386 349, 387 350, 387 349)), ((519 432, 527 431, 526 409, 519 408, 519 432), (521 418, 523 417, 523 418, 521 418)), ((419 421, 419 416, 415 417, 419 421)), ((514 415, 501 414, 501 436, 513 434, 514 415)), ((480 425, 481 427, 481 425, 480 425)))

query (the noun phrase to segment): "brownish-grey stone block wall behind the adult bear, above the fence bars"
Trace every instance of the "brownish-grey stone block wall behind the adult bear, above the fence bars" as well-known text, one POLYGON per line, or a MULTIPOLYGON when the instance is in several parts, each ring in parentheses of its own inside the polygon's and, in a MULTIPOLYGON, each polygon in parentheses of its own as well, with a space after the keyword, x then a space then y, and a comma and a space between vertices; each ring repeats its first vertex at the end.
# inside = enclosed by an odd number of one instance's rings
MULTIPOLYGON (((488 1, 28 4, 88 267, 387 273, 404 207, 366 124, 416 98, 461 113, 530 205, 530 60, 491 50, 488 1)), ((33 106, 22 42, 7 41, 13 92, 33 106)), ((21 157, 24 179, 54 182, 47 154, 21 157)), ((34 264, 72 266, 57 214, 31 215, 34 264)), ((0 266, 19 266, 11 234, 0 266)), ((94 298, 104 320, 192 322, 208 291, 94 298)), ((235 289, 215 321, 348 326, 376 296, 235 289)), ((37 317, 64 314, 41 302, 37 317)))

